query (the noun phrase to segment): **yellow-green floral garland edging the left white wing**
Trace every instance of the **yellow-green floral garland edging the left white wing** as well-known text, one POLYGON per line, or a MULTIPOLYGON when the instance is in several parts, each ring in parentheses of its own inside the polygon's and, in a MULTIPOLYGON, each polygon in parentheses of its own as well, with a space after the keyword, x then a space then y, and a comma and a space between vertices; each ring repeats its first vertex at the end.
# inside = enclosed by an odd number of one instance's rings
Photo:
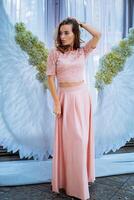
POLYGON ((15 31, 16 42, 29 55, 29 64, 35 66, 38 71, 36 78, 43 82, 45 89, 47 89, 47 76, 45 75, 48 57, 47 48, 45 48, 43 42, 40 42, 37 37, 33 36, 32 32, 26 30, 24 23, 16 23, 15 31))

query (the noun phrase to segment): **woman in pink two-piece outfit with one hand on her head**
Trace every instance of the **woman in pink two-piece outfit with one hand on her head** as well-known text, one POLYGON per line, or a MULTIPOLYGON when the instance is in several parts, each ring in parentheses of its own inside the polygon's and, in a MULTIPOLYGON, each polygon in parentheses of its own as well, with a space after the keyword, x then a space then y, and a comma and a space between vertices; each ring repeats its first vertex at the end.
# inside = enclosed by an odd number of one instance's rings
POLYGON ((52 191, 64 189, 69 196, 82 200, 90 197, 88 182, 95 181, 92 104, 84 83, 84 66, 100 35, 88 24, 67 18, 58 26, 56 47, 47 60, 46 74, 56 115, 52 191), (79 26, 93 36, 83 47, 79 26))

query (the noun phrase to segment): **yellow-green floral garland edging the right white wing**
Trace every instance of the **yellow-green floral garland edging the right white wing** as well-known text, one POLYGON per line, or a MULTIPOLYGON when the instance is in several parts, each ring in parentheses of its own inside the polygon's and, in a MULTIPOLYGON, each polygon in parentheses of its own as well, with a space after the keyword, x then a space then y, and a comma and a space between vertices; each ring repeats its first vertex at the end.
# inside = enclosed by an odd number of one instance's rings
POLYGON ((113 47, 110 53, 99 60, 99 71, 95 75, 97 90, 111 84, 113 78, 123 70, 126 59, 133 54, 133 46, 134 28, 130 28, 128 37, 122 39, 117 47, 113 47))

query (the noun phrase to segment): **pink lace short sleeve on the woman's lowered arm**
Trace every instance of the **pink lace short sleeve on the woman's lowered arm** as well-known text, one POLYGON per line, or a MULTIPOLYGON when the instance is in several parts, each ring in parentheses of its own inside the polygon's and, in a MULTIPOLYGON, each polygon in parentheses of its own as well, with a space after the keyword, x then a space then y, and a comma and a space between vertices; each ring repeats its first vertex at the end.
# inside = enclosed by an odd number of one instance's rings
POLYGON ((57 54, 56 50, 53 48, 50 50, 48 54, 46 75, 56 75, 56 62, 57 62, 57 54))

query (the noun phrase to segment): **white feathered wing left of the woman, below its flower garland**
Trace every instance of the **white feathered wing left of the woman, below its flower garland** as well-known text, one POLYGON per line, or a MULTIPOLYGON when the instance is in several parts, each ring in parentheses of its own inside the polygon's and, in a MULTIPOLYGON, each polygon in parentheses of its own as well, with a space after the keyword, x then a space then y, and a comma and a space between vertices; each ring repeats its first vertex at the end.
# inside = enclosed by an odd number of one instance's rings
POLYGON ((0 144, 21 157, 52 154, 54 117, 48 90, 16 45, 15 30, 0 1, 0 144))

